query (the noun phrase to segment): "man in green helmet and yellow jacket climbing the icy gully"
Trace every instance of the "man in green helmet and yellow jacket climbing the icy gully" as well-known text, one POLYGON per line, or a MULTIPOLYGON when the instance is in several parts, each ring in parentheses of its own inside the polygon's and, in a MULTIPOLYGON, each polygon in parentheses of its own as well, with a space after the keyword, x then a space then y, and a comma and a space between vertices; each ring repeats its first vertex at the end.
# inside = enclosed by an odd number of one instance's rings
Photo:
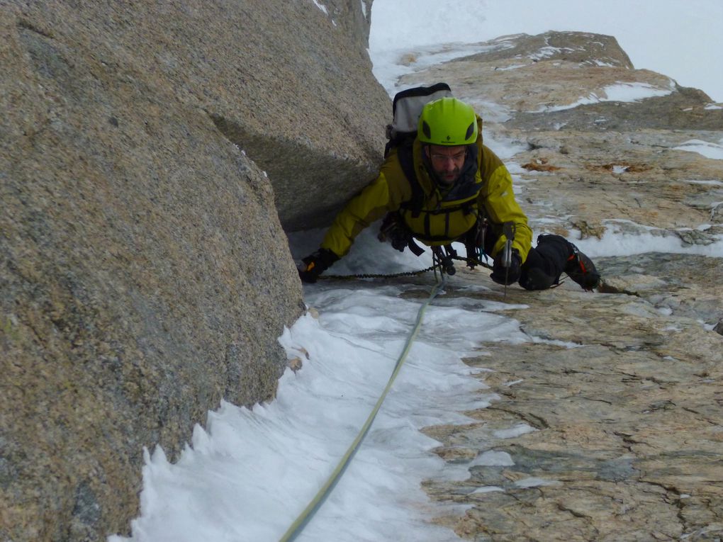
POLYGON ((320 249, 302 260, 301 280, 316 282, 361 230, 382 217, 379 238, 395 249, 408 247, 419 255, 415 240, 433 250, 462 242, 468 257, 493 258, 490 277, 505 286, 517 282, 544 290, 557 284, 562 272, 585 290, 600 280, 593 262, 561 236, 541 235, 536 248, 531 246, 532 231, 515 201, 510 173, 482 144, 482 119, 457 98, 429 101, 409 142, 388 146, 377 178, 339 212, 320 249), (512 241, 505 262, 503 229, 512 241))

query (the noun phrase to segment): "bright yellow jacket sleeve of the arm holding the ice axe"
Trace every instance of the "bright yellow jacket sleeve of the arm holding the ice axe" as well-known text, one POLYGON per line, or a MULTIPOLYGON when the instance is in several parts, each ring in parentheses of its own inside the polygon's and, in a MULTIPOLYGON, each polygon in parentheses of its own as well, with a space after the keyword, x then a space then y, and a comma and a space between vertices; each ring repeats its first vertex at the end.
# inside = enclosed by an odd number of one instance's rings
MULTIPOLYGON (((480 196, 483 199, 484 208, 487 210, 487 216, 495 229, 500 228, 500 232, 501 226, 505 222, 512 222, 515 225, 515 238, 512 246, 519 251, 522 261, 525 262, 532 246, 532 230, 527 225, 527 216, 515 199, 512 176, 502 160, 497 158, 492 150, 484 146, 482 148, 482 171, 484 171, 486 182, 480 196)), ((500 235, 492 249, 492 257, 502 250, 506 241, 507 238, 500 235)))

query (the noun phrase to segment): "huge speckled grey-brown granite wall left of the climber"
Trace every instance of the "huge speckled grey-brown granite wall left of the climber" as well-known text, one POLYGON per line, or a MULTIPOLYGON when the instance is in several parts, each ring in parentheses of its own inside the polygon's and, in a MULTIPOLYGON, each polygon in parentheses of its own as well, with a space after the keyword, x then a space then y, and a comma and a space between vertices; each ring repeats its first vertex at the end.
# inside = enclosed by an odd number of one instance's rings
POLYGON ((126 531, 143 447, 273 397, 282 223, 367 180, 389 105, 326 5, 0 5, 3 541, 126 531))

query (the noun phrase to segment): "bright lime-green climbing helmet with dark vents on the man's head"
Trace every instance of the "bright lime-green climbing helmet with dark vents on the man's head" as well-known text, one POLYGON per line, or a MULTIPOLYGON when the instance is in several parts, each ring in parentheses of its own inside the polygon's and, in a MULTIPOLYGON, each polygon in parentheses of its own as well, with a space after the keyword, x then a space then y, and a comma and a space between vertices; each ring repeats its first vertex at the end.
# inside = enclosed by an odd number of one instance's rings
POLYGON ((416 133, 431 145, 471 145, 477 140, 477 116, 462 100, 440 98, 424 106, 416 133))

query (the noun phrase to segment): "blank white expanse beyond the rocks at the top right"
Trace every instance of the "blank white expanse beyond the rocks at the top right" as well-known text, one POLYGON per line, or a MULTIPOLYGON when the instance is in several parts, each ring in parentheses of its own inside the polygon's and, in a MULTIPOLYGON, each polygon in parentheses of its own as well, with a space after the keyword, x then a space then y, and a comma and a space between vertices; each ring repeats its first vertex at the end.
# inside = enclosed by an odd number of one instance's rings
POLYGON ((722 0, 375 0, 372 53, 500 35, 613 35, 636 68, 723 102, 722 0))

